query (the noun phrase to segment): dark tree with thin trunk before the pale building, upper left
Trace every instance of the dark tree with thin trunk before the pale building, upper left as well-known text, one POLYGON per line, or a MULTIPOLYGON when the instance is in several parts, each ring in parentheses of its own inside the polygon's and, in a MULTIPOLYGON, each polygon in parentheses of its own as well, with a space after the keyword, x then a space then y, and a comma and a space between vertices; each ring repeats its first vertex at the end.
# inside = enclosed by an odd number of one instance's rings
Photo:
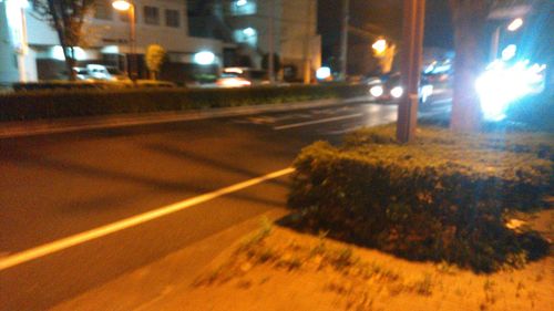
POLYGON ((39 18, 58 33, 69 79, 75 80, 75 48, 81 43, 84 17, 93 9, 94 0, 32 0, 32 4, 39 18))

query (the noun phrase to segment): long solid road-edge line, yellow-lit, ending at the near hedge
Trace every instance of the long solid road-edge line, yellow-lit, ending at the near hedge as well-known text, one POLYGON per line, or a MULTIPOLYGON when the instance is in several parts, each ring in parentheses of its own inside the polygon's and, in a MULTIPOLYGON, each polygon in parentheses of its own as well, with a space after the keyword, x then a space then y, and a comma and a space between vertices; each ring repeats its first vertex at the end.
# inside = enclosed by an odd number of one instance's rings
POLYGON ((115 221, 113 224, 109 224, 105 226, 101 226, 95 229, 91 229, 81 234, 76 234, 74 236, 70 236, 50 243, 45 243, 39 247, 34 247, 21 252, 13 253, 11 256, 8 256, 6 258, 0 259, 0 271, 9 269, 11 267, 38 259, 40 257, 44 257, 54 252, 58 252, 60 250, 84 243, 90 240, 94 240, 104 236, 107 236, 110 234, 121 231, 134 226, 138 226, 141 224, 147 222, 150 220, 154 220, 156 218, 186 209, 188 207, 218 198, 220 196, 228 195, 230 193, 235 193, 248 187, 252 187, 257 184, 261 184, 264 182, 275 179, 285 175, 288 175, 293 173, 295 169, 291 167, 277 170, 274 173, 269 173, 267 175, 256 177, 239 184, 235 184, 233 186, 228 186, 212 193, 207 193, 194 198, 189 198, 179 203, 175 203, 168 206, 164 206, 151 211, 146 211, 136 216, 129 217, 126 219, 122 219, 119 221, 115 221))

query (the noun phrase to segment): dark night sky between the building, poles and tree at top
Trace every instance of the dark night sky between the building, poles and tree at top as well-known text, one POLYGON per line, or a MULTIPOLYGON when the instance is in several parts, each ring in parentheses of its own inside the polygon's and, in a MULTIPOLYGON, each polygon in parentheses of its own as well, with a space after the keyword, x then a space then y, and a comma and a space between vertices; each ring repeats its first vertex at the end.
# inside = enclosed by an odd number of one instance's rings
MULTIPOLYGON (((402 33, 402 0, 350 0, 350 24, 399 41, 402 33)), ((330 56, 338 56, 341 11, 342 0, 319 0, 324 62, 330 56)), ((452 32, 448 1, 427 0, 424 45, 451 50, 452 32)), ((350 33, 350 44, 360 41, 363 39, 350 33)))

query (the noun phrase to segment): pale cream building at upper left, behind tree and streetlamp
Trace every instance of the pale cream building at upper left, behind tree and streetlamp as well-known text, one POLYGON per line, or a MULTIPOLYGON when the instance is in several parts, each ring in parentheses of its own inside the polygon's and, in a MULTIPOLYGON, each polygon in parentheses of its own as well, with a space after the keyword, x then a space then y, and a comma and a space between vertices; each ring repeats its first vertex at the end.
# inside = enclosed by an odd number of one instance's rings
MULTIPOLYGON (((78 66, 104 64, 126 71, 130 55, 130 21, 115 11, 111 0, 98 0, 85 18, 82 44, 75 46, 78 66)), ((144 54, 150 44, 167 53, 161 77, 176 82, 216 73, 223 65, 224 41, 188 34, 186 1, 134 0, 137 73, 147 77, 144 54), (198 64, 195 55, 209 52, 212 62, 198 64)), ((64 79, 63 50, 55 31, 27 2, 0 1, 0 83, 64 79)))

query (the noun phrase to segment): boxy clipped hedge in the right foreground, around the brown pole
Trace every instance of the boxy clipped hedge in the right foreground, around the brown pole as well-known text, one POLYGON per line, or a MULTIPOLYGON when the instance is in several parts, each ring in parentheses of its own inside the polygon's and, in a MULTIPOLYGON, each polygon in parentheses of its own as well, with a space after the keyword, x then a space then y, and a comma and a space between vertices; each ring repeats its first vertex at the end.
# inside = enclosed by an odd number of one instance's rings
POLYGON ((289 205, 315 229, 482 271, 547 249, 505 221, 553 194, 553 135, 525 142, 524 135, 422 128, 417 143, 400 145, 392 134, 393 126, 362 129, 341 147, 319 142, 305 148, 295 162, 289 205))

